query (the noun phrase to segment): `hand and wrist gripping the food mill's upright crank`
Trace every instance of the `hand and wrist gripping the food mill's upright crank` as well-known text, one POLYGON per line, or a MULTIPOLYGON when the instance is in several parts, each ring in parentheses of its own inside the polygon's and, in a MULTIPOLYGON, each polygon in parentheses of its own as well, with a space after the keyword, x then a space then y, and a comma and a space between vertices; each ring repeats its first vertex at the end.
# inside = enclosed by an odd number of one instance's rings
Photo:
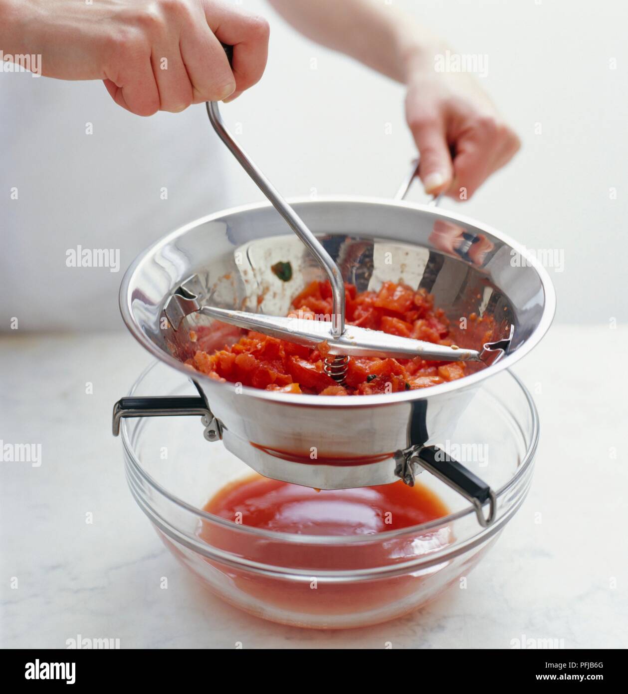
POLYGON ((41 55, 45 76, 102 79, 117 104, 140 116, 231 101, 266 65, 268 22, 214 0, 0 4, 14 54, 41 55), (234 46, 233 70, 220 42, 234 46))

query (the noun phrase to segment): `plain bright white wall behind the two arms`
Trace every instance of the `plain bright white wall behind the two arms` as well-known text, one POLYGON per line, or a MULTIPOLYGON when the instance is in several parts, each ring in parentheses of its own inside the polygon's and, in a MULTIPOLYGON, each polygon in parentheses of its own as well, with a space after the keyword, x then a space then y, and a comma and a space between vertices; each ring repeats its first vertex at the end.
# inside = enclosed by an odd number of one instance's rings
MULTIPOLYGON (((466 203, 446 203, 528 248, 564 251, 549 268, 557 321, 628 319, 628 23, 620 0, 393 0, 446 37, 488 56, 480 78, 523 141, 516 158, 466 203), (609 69, 616 58, 617 69, 609 69), (535 135, 535 124, 542 134, 535 135), (609 199, 616 188, 617 199, 609 199), (463 209, 464 208, 464 209, 463 209)), ((266 15, 257 0, 243 5, 266 15)), ((286 195, 391 196, 414 145, 404 90, 307 42, 274 15, 258 88, 223 111, 241 121, 250 155, 286 195), (317 70, 309 68, 317 59, 317 70), (385 124, 392 135, 385 135, 385 124)), ((233 202, 260 198, 228 162, 233 202)), ((229 196, 231 198, 231 196, 229 196)), ((410 199, 424 199, 417 186, 410 199)))

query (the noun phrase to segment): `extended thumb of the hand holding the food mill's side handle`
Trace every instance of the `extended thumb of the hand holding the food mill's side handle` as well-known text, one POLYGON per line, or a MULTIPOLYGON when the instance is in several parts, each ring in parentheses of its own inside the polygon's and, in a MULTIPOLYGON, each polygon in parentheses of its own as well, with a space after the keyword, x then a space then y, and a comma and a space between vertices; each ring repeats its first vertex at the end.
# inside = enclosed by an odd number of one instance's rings
POLYGON ((419 177, 426 193, 445 192, 453 178, 453 164, 446 139, 444 124, 426 120, 410 125, 419 149, 419 177))

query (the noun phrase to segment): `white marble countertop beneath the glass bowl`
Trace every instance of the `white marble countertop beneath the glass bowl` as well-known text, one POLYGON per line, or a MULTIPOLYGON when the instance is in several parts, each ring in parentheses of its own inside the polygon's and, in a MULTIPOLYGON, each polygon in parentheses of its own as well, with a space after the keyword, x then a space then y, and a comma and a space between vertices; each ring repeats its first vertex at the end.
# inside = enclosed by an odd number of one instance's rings
POLYGON ((534 482, 465 591, 316 632, 208 595, 135 505, 110 432, 112 404, 149 361, 131 337, 0 338, 0 439, 42 443, 39 467, 0 463, 0 645, 64 648, 82 634, 121 648, 511 648, 525 634, 627 648, 627 342, 625 327, 557 325, 516 369, 541 416, 534 482), (594 340, 599 359, 561 355, 594 340))

